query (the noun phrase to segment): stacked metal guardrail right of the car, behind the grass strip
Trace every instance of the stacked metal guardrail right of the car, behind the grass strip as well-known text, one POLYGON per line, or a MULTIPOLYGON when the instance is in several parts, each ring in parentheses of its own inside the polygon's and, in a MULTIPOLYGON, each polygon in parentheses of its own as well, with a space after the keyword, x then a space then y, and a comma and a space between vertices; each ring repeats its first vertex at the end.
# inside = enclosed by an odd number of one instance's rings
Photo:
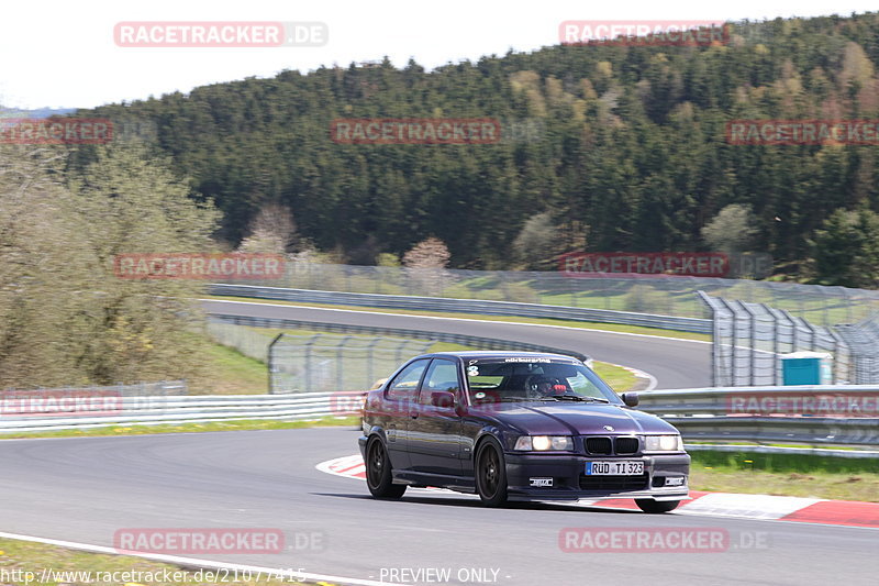
POLYGON ((661 417, 689 441, 879 445, 876 386, 648 390, 638 398, 639 410, 661 417), (817 408, 803 406, 806 398, 817 408))

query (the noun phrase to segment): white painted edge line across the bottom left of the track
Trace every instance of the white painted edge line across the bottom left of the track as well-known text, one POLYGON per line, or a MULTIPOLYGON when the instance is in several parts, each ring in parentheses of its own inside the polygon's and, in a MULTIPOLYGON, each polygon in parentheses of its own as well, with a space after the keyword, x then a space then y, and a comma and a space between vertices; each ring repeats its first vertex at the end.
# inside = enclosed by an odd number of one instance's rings
MULTIPOLYGON (((387 586, 387 582, 376 582, 371 579, 360 578, 346 578, 342 576, 330 576, 325 574, 310 574, 307 572, 292 572, 289 570, 279 570, 272 567, 263 567, 244 564, 233 564, 226 562, 214 562, 212 560, 199 560, 194 557, 179 557, 177 555, 166 555, 160 553, 129 553, 120 554, 114 548, 107 548, 103 545, 92 545, 90 543, 77 543, 75 541, 62 541, 57 539, 35 538, 33 535, 20 535, 18 533, 0 532, 0 538, 14 539, 19 541, 30 541, 33 543, 45 543, 46 545, 56 545, 58 548, 68 548, 71 550, 79 550, 91 553, 104 553, 110 555, 126 555, 129 557, 142 557, 144 560, 152 560, 154 562, 164 562, 175 564, 181 567, 196 567, 196 568, 211 568, 211 570, 237 570, 241 572, 262 572, 263 574, 272 577, 285 577, 291 582, 335 582, 338 584, 351 584, 352 586, 387 586)), ((36 573, 35 573, 36 574, 36 573)), ((399 586, 399 583, 394 583, 399 586)))

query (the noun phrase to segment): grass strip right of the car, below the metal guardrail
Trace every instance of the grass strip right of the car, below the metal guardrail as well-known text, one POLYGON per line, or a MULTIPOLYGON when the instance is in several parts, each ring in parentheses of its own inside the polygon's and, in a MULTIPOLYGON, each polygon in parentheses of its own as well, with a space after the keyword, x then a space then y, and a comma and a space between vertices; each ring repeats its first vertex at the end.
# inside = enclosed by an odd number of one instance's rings
POLYGON ((691 452, 690 488, 879 502, 879 460, 691 452))

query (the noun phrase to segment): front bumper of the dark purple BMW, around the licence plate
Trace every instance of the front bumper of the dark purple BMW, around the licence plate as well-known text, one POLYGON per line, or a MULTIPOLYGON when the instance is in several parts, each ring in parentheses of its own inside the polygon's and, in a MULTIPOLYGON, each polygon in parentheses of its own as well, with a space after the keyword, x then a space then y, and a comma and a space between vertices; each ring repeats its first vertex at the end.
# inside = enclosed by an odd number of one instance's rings
MULTIPOLYGON (((689 498, 690 456, 682 453, 637 456, 586 456, 572 454, 505 454, 508 494, 511 499, 601 500, 610 498, 649 498, 682 500, 689 498), (644 475, 587 476, 589 461, 637 460, 644 462, 644 475), (552 478, 552 486, 546 484, 552 478), (682 484, 667 486, 666 478, 682 478, 682 484)), ((676 480, 671 480, 676 482, 676 480)))

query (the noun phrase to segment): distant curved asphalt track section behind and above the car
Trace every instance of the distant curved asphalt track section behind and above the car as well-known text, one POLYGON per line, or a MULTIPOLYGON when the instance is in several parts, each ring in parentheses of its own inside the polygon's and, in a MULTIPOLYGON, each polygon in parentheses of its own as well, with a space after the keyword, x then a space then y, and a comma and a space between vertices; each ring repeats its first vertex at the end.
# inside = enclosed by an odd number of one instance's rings
POLYGON ((205 299, 202 300, 202 307, 209 313, 432 330, 530 342, 574 350, 588 354, 597 361, 623 364, 645 371, 657 378, 657 388, 701 388, 711 385, 711 345, 704 342, 620 334, 581 328, 427 318, 247 301, 205 299))

